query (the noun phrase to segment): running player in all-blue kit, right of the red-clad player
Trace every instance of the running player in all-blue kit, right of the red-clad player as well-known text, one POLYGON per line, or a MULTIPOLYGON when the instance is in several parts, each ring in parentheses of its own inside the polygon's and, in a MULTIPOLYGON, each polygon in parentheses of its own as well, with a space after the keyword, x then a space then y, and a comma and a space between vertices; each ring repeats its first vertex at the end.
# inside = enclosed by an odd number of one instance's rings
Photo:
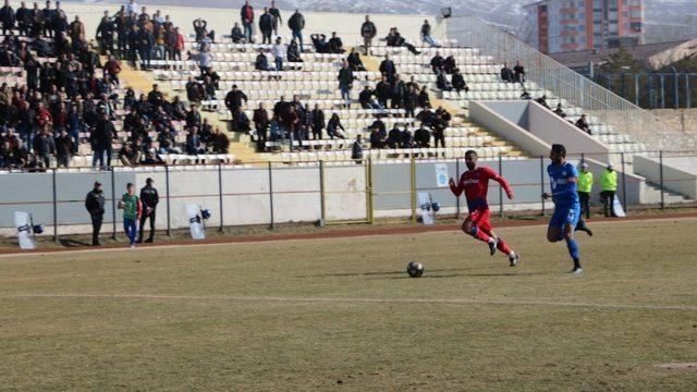
POLYGON ((585 222, 579 221, 580 203, 576 192, 578 171, 576 167, 566 161, 566 148, 560 144, 552 145, 549 159, 552 160, 552 163, 547 167, 547 173, 552 192, 551 194, 543 193, 542 198, 552 198, 554 213, 547 228, 547 241, 554 243, 564 240, 566 242, 568 254, 574 260, 574 269, 571 272, 578 274, 584 270, 580 268, 580 253, 578 244, 574 240, 574 230, 578 225, 579 230, 590 234, 590 229, 586 226, 585 222))

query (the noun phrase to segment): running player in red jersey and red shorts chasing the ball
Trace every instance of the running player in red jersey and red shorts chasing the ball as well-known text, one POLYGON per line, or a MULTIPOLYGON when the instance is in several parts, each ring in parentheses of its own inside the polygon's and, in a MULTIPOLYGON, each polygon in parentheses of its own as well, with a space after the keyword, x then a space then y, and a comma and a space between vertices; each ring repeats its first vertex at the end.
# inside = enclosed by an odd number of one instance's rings
POLYGON ((477 167, 477 152, 475 150, 468 150, 465 152, 465 163, 467 164, 467 171, 462 173, 460 182, 455 184, 453 179, 450 179, 450 189, 455 196, 462 195, 465 192, 467 198, 467 208, 469 209, 469 216, 462 224, 462 231, 473 237, 484 241, 489 244, 489 250, 491 255, 497 252, 497 248, 509 256, 511 267, 518 265, 518 255, 511 250, 501 237, 499 237, 491 228, 489 217, 489 205, 487 204, 487 191, 489 191, 489 180, 493 180, 503 186, 505 195, 513 199, 513 189, 511 185, 499 173, 491 168, 477 167))

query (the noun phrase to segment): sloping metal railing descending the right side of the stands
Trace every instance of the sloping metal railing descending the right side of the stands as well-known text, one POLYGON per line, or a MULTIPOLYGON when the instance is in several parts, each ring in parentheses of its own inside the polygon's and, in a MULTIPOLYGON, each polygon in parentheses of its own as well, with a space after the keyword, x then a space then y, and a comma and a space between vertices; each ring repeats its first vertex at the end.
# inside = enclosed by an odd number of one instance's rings
POLYGON ((478 48, 481 54, 491 56, 501 64, 506 62, 510 68, 519 61, 527 81, 649 148, 670 151, 697 147, 695 135, 668 126, 653 114, 476 16, 450 19, 448 37, 457 39, 461 46, 478 48))

